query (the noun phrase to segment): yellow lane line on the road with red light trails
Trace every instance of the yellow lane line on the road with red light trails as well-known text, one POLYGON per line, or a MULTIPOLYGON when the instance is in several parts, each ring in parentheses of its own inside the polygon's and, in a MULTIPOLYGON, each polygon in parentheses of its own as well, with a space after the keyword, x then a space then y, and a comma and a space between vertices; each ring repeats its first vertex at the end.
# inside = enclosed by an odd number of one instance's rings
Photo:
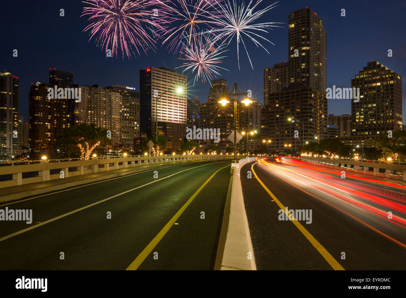
POLYGON ((333 267, 334 270, 345 270, 340 264, 339 262, 337 262, 332 255, 330 255, 330 253, 322 246, 322 244, 320 244, 320 242, 318 242, 310 233, 309 231, 307 231, 307 229, 305 229, 302 224, 296 220, 296 218, 293 216, 293 214, 290 214, 289 212, 286 212, 286 207, 283 206, 283 204, 279 201, 279 199, 277 199, 275 197, 275 195, 268 189, 268 187, 265 186, 265 184, 263 184, 263 182, 259 179, 259 177, 257 176, 257 174, 254 171, 254 165, 255 163, 251 166, 251 170, 254 173, 255 178, 257 178, 259 184, 261 184, 261 186, 263 187, 263 189, 266 190, 266 192, 272 197, 272 199, 274 199, 274 201, 276 202, 276 204, 278 204, 279 208, 281 208, 285 214, 287 216, 291 215, 293 220, 292 223, 294 223, 294 225, 296 225, 296 227, 299 229, 300 232, 302 232, 302 234, 304 235, 304 237, 307 238, 307 240, 309 240, 309 242, 315 247, 315 249, 317 249, 317 251, 322 255, 322 257, 324 257, 324 259, 328 262, 328 264, 330 264, 331 267, 333 267))

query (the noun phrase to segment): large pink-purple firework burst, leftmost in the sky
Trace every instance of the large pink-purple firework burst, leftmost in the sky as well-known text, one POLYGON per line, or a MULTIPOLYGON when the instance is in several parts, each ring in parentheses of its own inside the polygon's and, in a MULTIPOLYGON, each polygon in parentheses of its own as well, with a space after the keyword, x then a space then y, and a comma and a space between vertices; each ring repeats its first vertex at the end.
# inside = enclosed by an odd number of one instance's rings
MULTIPOLYGON (((155 0, 86 0, 81 15, 89 15, 92 23, 83 31, 90 30, 90 39, 95 37, 102 48, 111 50, 112 56, 117 56, 118 49, 130 58, 131 53, 140 51, 147 53, 147 48, 153 47, 154 39, 149 36, 144 26, 159 26, 151 16, 153 11, 147 7, 156 4, 155 0)), ((154 27, 154 28, 155 28, 154 27)))

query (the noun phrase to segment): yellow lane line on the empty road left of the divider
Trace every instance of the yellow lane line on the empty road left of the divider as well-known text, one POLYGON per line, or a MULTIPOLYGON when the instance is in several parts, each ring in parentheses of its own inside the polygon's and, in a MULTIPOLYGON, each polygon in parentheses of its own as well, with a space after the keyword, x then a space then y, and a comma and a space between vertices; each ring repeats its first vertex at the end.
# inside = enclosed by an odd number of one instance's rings
MULTIPOLYGON (((221 169, 224 169, 226 167, 229 167, 230 165, 227 165, 225 167, 222 167, 221 169)), ((158 235, 155 236, 155 238, 152 239, 151 242, 145 247, 143 251, 136 257, 136 259, 130 264, 130 266, 127 267, 126 270, 137 270, 137 268, 144 262, 144 260, 148 257, 148 255, 151 253, 151 251, 155 248, 155 246, 161 241, 161 239, 165 236, 165 234, 169 231, 169 229, 175 224, 177 219, 181 216, 181 214, 188 208, 190 203, 194 200, 194 198, 201 192, 203 187, 214 177, 214 175, 217 174, 218 171, 221 169, 218 169, 212 176, 210 176, 209 179, 204 182, 201 187, 188 199, 188 201, 179 209, 178 212, 171 218, 170 221, 162 228, 162 230, 158 233, 158 235)))

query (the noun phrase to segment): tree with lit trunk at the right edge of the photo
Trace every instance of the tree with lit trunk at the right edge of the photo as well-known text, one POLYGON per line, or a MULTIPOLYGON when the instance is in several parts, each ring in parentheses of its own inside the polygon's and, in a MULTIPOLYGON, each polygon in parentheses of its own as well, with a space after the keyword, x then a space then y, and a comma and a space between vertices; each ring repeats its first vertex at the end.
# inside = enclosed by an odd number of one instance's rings
POLYGON ((382 151, 385 159, 391 157, 394 161, 404 161, 406 158, 406 131, 397 130, 392 132, 392 137, 380 135, 369 141, 369 144, 382 151))

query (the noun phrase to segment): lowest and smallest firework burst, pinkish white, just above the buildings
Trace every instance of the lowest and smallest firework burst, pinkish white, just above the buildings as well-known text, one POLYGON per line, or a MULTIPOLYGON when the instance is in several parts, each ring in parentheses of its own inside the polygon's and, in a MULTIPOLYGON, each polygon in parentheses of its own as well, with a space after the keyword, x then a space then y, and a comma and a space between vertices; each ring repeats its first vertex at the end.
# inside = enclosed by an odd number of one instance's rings
MULTIPOLYGON (((222 63, 222 58, 226 56, 221 56, 228 50, 224 50, 225 44, 216 46, 216 44, 210 39, 211 34, 198 34, 192 36, 192 42, 189 44, 184 44, 182 47, 182 54, 185 58, 178 58, 181 60, 186 60, 183 66, 177 68, 186 67, 183 72, 191 69, 192 73, 195 73, 194 82, 199 79, 204 83, 206 80, 210 81, 216 75, 220 75, 220 69, 224 69, 218 66, 222 63)), ((188 36, 185 36, 188 40, 188 36)), ((182 42, 183 43, 183 42, 182 42)), ((193 83, 194 85, 194 83, 193 83)))

